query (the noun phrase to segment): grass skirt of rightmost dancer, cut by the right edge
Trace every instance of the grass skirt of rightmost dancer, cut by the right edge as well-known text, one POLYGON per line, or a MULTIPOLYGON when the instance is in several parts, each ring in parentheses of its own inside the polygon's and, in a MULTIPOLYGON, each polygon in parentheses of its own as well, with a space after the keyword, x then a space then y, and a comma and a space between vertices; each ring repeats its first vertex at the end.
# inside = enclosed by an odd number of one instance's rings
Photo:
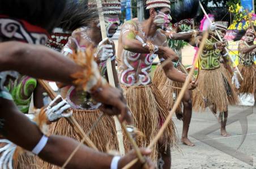
POLYGON ((240 88, 238 92, 241 94, 254 94, 256 87, 256 65, 251 66, 238 65, 244 81, 237 75, 238 81, 240 83, 240 88))

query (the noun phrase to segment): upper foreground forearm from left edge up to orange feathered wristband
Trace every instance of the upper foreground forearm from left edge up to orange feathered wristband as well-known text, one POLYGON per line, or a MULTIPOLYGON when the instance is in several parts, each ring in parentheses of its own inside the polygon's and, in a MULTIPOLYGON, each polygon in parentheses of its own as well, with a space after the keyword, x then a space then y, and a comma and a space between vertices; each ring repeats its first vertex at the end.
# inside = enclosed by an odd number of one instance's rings
POLYGON ((22 42, 0 43, 0 72, 15 70, 35 78, 72 84, 82 68, 50 48, 22 42))

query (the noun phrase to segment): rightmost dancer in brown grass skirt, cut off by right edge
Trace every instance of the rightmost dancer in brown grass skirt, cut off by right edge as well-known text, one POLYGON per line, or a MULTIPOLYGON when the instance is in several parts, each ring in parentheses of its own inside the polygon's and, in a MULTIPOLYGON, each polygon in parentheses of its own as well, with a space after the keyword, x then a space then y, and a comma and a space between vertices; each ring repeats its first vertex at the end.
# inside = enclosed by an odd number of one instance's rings
POLYGON ((238 45, 239 51, 239 64, 238 69, 240 70, 244 81, 239 78, 236 73, 233 75, 233 79, 238 77, 238 83, 236 83, 236 87, 238 88, 238 92, 240 94, 246 95, 254 95, 254 99, 256 98, 255 87, 256 87, 256 65, 254 63, 254 57, 256 52, 256 45, 254 45, 255 34, 254 30, 248 28, 247 30, 242 30, 237 33, 234 41, 240 40, 238 45))

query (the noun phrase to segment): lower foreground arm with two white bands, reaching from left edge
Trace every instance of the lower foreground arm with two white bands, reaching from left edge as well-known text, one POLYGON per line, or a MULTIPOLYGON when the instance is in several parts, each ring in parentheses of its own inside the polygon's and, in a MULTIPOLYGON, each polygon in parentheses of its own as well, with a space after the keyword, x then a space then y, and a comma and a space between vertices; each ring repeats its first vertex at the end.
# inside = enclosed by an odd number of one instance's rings
MULTIPOLYGON (((1 134, 6 139, 24 149, 32 151, 39 143, 42 133, 35 123, 32 123, 23 113, 20 113, 11 100, 0 98, 1 134)), ((39 153, 39 157, 47 162, 62 166, 72 151, 78 146, 78 142, 67 137, 49 136, 49 139, 39 153)), ((150 151, 141 149, 143 155, 150 151)), ((118 168, 123 167, 134 159, 134 152, 120 159, 118 168)), ((96 152, 87 146, 80 146, 78 152, 67 164, 66 168, 110 168, 113 155, 96 152)), ((152 163, 151 167, 152 167, 152 163)), ((141 164, 137 163, 136 168, 141 164)))

